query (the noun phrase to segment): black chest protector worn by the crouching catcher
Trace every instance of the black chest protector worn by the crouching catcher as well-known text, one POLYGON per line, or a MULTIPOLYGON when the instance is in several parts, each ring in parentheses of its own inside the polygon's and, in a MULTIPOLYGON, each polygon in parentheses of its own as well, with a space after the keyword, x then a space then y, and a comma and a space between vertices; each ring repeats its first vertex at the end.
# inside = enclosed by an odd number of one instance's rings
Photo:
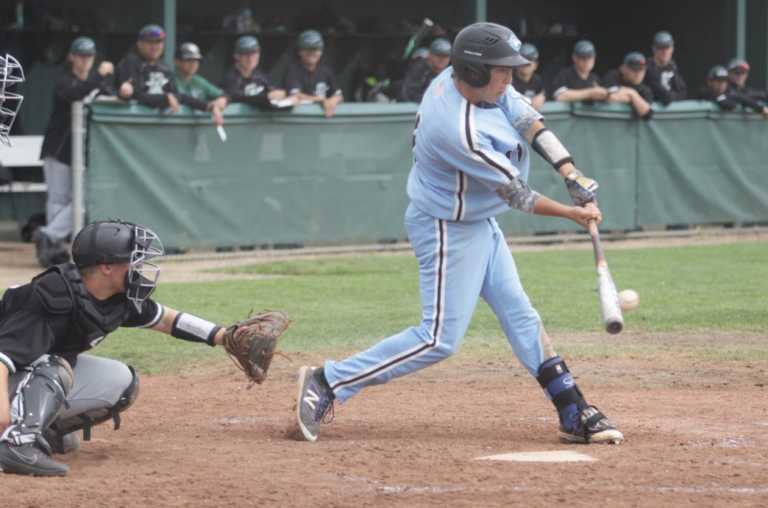
POLYGON ((48 312, 70 314, 72 321, 65 341, 69 344, 84 342, 86 349, 120 327, 128 313, 128 302, 124 299, 97 304, 73 263, 49 268, 32 279, 32 287, 48 312), (52 272, 59 277, 46 276, 52 272))

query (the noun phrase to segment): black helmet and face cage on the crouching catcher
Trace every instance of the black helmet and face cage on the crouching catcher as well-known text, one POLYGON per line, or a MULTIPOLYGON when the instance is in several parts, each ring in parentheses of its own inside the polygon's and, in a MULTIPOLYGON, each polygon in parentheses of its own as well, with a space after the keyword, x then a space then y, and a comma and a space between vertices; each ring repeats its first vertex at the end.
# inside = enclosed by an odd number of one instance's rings
POLYGON ((72 258, 79 268, 128 263, 125 296, 137 311, 155 290, 160 277, 160 267, 149 260, 163 254, 165 249, 154 231, 130 222, 93 222, 72 242, 72 258))

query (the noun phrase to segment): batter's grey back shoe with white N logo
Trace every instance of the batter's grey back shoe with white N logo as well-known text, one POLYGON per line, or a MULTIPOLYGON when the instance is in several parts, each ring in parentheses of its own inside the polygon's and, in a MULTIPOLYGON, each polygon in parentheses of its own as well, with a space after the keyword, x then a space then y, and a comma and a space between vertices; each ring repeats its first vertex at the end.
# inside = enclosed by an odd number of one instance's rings
POLYGON ((333 390, 328 386, 322 368, 299 369, 299 394, 296 398, 296 420, 300 437, 317 441, 320 424, 333 410, 333 390))

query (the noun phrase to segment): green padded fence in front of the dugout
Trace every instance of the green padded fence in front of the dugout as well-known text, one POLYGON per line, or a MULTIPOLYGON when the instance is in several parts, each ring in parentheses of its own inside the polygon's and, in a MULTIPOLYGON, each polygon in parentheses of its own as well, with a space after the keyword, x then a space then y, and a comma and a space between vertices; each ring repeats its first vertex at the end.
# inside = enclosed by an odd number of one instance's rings
MULTIPOLYGON (((226 111, 226 142, 207 115, 93 104, 88 121, 89 220, 120 217, 176 248, 402 240, 412 104, 226 111)), ((547 125, 601 184, 605 229, 768 220, 768 122, 701 102, 658 108, 547 103, 547 125)), ((534 189, 566 201, 534 156, 534 189)), ((573 230, 510 211, 508 235, 573 230)))

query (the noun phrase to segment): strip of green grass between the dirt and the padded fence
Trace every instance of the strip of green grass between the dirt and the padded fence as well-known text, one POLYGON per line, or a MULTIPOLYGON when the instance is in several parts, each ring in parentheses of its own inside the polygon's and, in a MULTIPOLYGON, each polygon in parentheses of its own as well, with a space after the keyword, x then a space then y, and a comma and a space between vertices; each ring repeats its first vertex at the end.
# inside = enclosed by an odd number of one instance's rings
MULTIPOLYGON (((611 250, 608 259, 620 288, 640 293, 640 308, 625 316, 639 332, 748 332, 768 330, 768 244, 611 250)), ((515 255, 523 284, 550 332, 597 332, 593 342, 560 344, 569 355, 647 355, 663 345, 602 340, 596 278, 590 251, 515 255)), ((288 351, 350 351, 417 324, 418 269, 411 255, 362 255, 279 261, 227 269, 263 275, 239 281, 161 284, 156 298, 221 323, 253 309, 286 311, 294 320, 282 347, 288 351)), ((498 323, 481 302, 465 349, 497 354, 507 348, 498 323)), ((691 349, 689 344, 685 351, 691 349)), ((693 347, 696 349, 695 347, 693 347)), ((141 370, 177 370, 220 358, 220 348, 186 344, 155 333, 121 329, 96 354, 141 370)), ((713 347, 694 354, 723 360, 768 359, 766 343, 713 347)))

